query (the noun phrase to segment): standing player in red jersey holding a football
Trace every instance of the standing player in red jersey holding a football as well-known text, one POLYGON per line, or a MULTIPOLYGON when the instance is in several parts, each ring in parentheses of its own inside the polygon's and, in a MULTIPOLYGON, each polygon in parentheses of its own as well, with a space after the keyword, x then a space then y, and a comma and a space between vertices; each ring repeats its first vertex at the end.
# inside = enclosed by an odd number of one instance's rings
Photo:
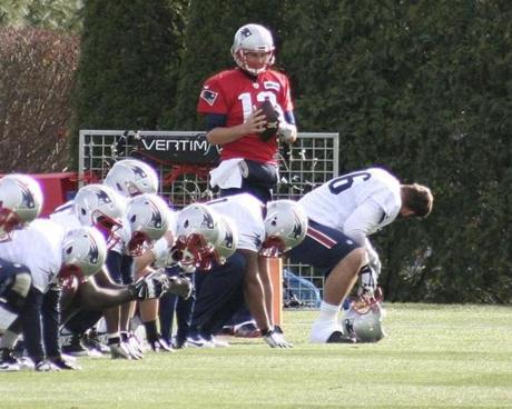
POLYGON ((203 86, 197 111, 206 116, 208 141, 223 147, 210 180, 221 196, 248 192, 269 201, 277 183, 277 138, 286 143, 297 138, 288 78, 270 69, 274 51, 270 31, 246 24, 232 47, 237 67, 216 73, 203 86), (277 131, 269 137, 263 136, 267 121, 259 107, 264 101, 279 116, 277 131))

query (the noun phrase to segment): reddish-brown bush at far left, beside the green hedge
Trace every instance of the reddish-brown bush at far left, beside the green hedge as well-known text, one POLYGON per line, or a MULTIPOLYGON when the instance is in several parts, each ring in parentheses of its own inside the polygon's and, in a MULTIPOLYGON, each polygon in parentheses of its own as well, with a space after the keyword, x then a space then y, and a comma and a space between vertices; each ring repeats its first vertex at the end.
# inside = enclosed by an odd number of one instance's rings
POLYGON ((0 28, 0 172, 66 168, 77 63, 73 36, 0 28))

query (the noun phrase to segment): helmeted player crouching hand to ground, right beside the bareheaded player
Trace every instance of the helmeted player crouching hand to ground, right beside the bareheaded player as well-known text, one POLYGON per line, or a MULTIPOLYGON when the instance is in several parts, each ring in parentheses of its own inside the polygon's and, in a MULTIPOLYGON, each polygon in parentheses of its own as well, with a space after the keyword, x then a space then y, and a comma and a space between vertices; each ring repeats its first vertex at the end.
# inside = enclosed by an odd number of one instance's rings
MULTIPOLYGON (((203 340, 210 341, 245 301, 265 341, 273 348, 291 347, 274 328, 269 311, 272 285, 266 259, 260 252, 263 249, 283 251, 296 246, 307 228, 305 213, 295 202, 278 200, 265 207, 248 193, 224 197, 207 206, 236 225, 238 243, 226 263, 214 266, 206 275, 196 273, 197 295, 190 327, 197 333, 191 333, 187 343, 199 346, 203 340), (267 223, 270 217, 274 218, 272 227, 267 223), (270 243, 279 249, 270 248, 270 243)), ((215 347, 215 339, 209 346, 215 347)))

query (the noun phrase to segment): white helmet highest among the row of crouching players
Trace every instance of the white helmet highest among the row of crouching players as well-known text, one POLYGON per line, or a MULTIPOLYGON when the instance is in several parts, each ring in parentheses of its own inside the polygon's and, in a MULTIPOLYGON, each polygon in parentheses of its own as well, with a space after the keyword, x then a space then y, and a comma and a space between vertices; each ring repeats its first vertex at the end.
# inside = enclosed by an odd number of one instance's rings
POLYGON ((104 183, 127 198, 158 192, 157 172, 137 159, 122 159, 114 163, 104 183))

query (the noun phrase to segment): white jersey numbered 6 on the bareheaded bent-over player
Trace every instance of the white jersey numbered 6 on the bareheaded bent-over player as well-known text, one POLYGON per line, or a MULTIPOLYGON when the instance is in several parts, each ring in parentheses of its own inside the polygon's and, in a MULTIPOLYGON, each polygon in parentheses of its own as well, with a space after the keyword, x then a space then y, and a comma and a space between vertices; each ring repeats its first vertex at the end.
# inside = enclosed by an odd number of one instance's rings
POLYGON ((380 168, 334 178, 298 202, 309 219, 335 228, 361 245, 366 236, 391 223, 402 207, 398 180, 380 168))

